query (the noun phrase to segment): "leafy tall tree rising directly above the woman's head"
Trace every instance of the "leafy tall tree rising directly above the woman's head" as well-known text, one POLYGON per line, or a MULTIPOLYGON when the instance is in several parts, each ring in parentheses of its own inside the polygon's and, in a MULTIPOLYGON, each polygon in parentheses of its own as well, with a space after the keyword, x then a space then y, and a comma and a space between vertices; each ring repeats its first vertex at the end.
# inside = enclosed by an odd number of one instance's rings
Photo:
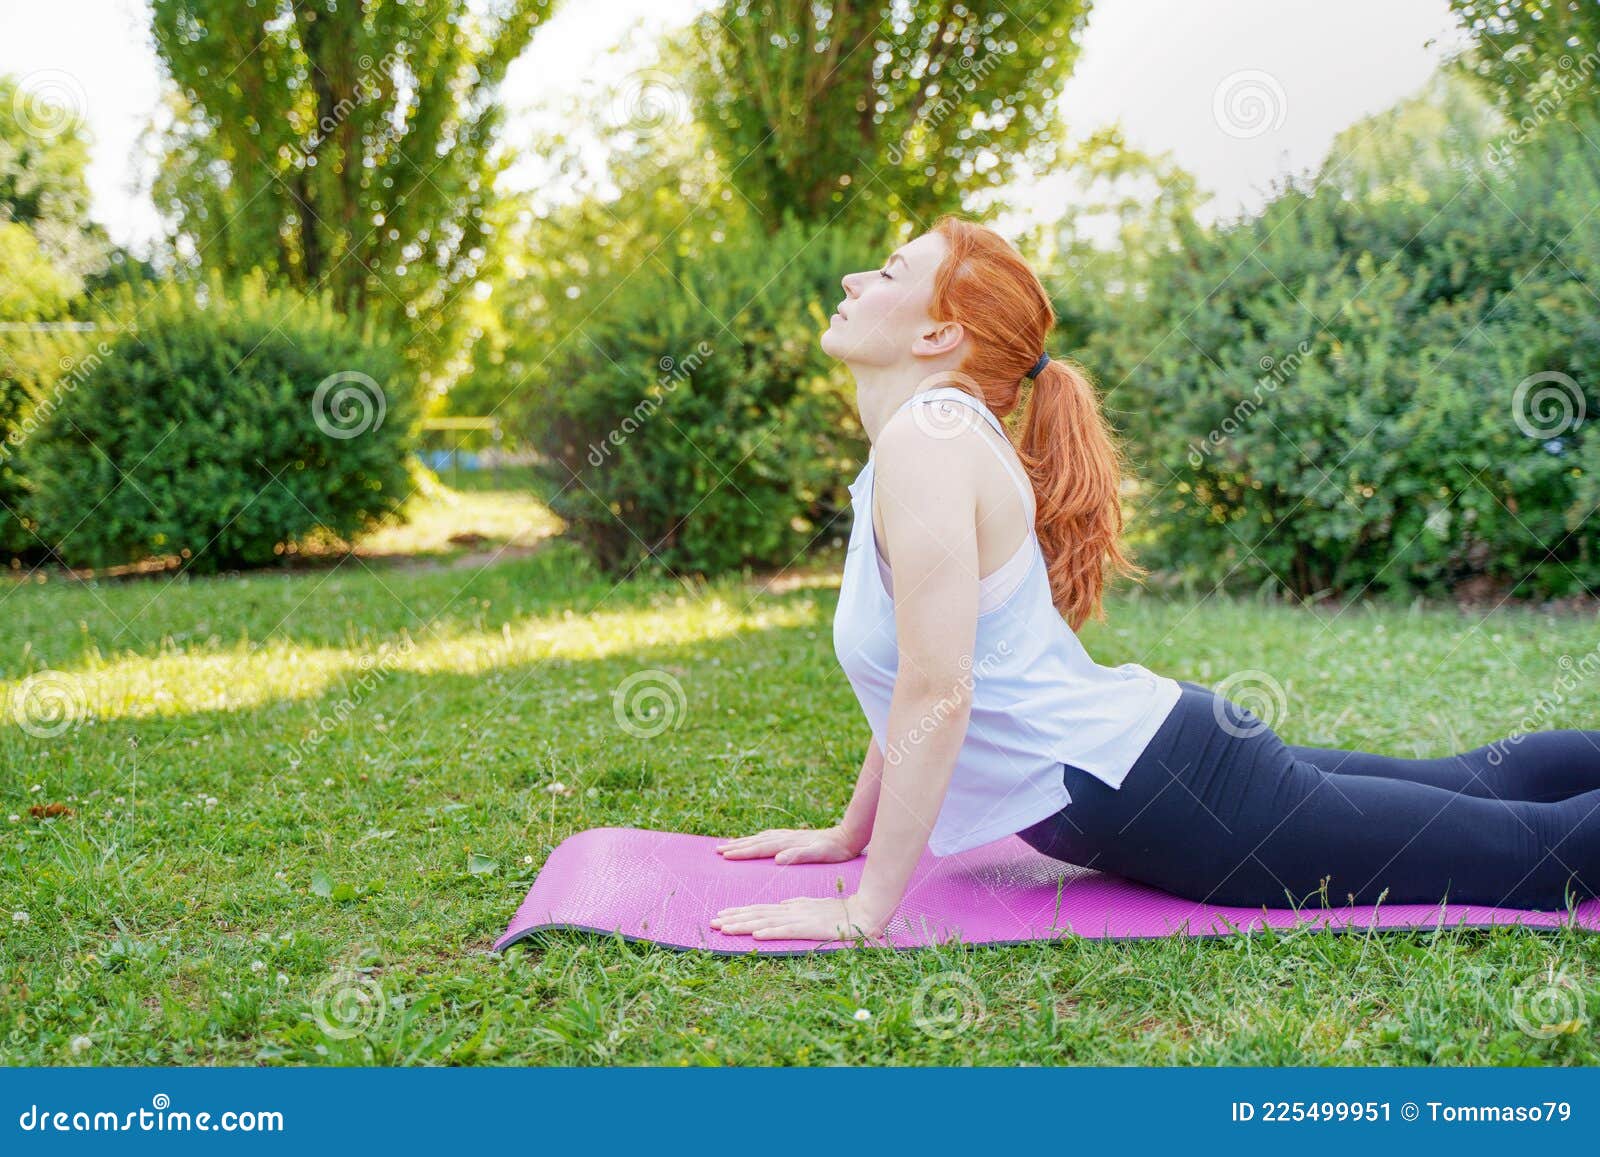
POLYGON ((962 208, 1059 139, 1083 0, 726 0, 685 42, 699 118, 768 230, 893 234, 962 208))

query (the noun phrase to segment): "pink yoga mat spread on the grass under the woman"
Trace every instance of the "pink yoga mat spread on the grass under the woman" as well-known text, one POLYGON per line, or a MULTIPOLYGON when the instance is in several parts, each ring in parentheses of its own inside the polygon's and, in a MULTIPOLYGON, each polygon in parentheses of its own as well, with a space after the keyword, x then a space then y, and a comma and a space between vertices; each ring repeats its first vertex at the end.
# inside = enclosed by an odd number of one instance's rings
MULTIPOLYGON (((848 864, 774 864, 723 859, 725 837, 592 827, 550 853, 506 933, 502 951, 541 928, 619 933, 678 949, 718 954, 795 955, 837 952, 846 941, 728 936, 710 917, 734 904, 770 904, 790 896, 834 896, 856 890, 866 856, 848 864)), ((1315 896, 1312 898, 1315 899, 1315 896)), ((1066 864, 1034 851, 1016 835, 955 856, 925 853, 906 898, 890 920, 893 947, 944 943, 1019 944, 1035 939, 1150 939, 1227 936, 1262 927, 1310 923, 1326 931, 1522 923, 1555 928, 1573 920, 1600 931, 1600 898, 1568 912, 1474 904, 1360 904, 1342 907, 1226 907, 1157 891, 1117 875, 1066 864)))

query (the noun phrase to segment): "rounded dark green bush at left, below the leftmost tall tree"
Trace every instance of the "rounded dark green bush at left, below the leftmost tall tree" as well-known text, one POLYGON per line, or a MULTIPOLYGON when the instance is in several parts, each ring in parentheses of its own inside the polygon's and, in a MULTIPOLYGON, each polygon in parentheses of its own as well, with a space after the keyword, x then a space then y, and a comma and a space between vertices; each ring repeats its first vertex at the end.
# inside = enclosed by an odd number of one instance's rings
POLYGON ((133 304, 26 445, 27 509, 62 562, 258 566, 398 509, 418 402, 370 326, 259 277, 133 304))

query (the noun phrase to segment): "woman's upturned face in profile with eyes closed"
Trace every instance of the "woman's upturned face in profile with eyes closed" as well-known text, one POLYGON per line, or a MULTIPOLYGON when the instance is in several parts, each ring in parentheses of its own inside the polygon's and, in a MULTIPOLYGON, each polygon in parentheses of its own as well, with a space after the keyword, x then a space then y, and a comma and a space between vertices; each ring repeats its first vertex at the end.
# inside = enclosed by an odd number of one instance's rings
POLYGON ((933 275, 944 261, 941 234, 923 234, 891 253, 882 267, 843 277, 845 299, 822 333, 822 352, 864 366, 894 366, 928 357, 933 275))

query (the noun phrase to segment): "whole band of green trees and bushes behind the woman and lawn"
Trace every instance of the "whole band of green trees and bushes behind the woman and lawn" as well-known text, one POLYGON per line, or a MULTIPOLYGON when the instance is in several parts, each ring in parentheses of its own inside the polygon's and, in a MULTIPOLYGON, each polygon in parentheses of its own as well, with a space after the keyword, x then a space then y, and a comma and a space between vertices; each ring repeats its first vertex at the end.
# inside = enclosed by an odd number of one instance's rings
POLYGON ((616 574, 794 563, 837 541, 866 453, 816 341, 838 277, 1053 171, 1080 195, 1019 243, 1056 349, 1128 437, 1146 565, 1302 599, 1600 591, 1600 8, 1451 6, 1472 46, 1427 88, 1261 211, 1203 224, 1171 157, 1115 125, 1069 142, 1088 3, 714 5, 571 107, 595 170, 578 134, 502 131, 498 88, 546 0, 152 0, 171 120, 149 264, 85 224, 82 136, 8 122, 0 80, 0 549, 96 565, 182 539, 186 565, 270 562, 403 510, 426 411, 502 422, 616 574), (518 157, 573 195, 507 190, 518 157), (293 413, 341 371, 384 384, 395 419, 370 443, 293 413), (320 478, 310 522, 245 517, 256 467, 158 442, 163 408, 200 421, 208 392, 219 442, 262 450, 240 430, 277 424, 272 469, 320 478), (141 434, 118 442, 123 411, 141 434), (110 438, 110 467, 85 435, 110 438), (141 454, 166 480, 154 504, 112 486, 146 478, 141 454), (229 472, 214 510, 182 499, 184 470, 229 472), (74 525, 74 491, 104 512, 74 525))

